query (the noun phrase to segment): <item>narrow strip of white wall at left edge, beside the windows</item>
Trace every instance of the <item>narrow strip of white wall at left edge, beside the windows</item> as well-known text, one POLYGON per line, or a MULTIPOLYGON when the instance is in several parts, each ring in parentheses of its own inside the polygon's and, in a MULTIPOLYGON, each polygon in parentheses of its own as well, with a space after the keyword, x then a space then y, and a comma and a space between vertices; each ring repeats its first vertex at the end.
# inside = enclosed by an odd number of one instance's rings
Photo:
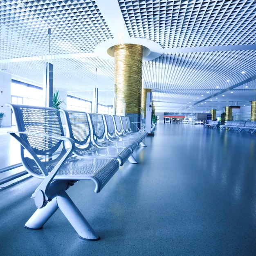
POLYGON ((0 71, 0 112, 5 114, 3 127, 10 127, 11 108, 6 103, 11 103, 11 74, 0 71))

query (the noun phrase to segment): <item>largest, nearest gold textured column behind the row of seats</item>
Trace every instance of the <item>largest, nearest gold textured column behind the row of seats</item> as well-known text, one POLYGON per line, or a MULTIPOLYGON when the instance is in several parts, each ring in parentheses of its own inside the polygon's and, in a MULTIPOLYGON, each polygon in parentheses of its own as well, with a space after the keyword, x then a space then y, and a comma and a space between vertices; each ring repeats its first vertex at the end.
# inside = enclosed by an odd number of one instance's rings
POLYGON ((115 95, 116 114, 141 114, 143 46, 115 45, 115 95))

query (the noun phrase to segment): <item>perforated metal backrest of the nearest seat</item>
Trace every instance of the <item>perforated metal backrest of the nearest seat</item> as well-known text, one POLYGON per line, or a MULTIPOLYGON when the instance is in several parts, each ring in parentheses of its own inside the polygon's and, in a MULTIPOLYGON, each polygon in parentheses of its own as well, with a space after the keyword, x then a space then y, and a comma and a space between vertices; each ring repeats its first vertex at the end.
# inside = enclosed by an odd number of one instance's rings
MULTIPOLYGON (((7 104, 11 106, 16 118, 19 132, 36 132, 34 134, 19 134, 22 142, 26 143, 27 150, 21 146, 20 155, 22 164, 27 171, 36 177, 47 176, 52 171, 58 159, 61 159, 67 151, 62 147, 61 153, 58 152, 62 140, 56 137, 40 136, 39 134, 63 136, 60 113, 56 108, 25 106, 7 104), (52 155, 57 153, 52 159, 52 155), (44 163, 40 161, 40 156, 47 157, 44 163)), ((13 134, 12 134, 13 135, 13 134)), ((15 136, 15 135, 13 135, 15 136)), ((16 138, 18 139, 18 138, 16 138)), ((21 143, 22 143, 21 142, 21 143)))

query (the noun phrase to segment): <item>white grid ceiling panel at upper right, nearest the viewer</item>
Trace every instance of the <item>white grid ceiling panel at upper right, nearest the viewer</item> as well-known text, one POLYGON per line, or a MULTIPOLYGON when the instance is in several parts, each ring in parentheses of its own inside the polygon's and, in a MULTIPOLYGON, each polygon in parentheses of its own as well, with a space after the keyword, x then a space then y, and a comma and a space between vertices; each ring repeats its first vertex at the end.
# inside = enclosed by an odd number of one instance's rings
POLYGON ((256 43, 254 0, 118 2, 130 36, 164 48, 256 43))

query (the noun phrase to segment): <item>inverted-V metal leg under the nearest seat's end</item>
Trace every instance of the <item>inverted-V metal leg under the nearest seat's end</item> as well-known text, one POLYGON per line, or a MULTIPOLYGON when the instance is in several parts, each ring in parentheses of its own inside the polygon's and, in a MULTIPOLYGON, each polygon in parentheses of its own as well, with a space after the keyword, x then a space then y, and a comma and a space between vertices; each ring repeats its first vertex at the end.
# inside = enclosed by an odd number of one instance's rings
POLYGON ((80 238, 92 241, 100 239, 65 191, 62 191, 45 207, 37 209, 27 221, 25 227, 41 229, 58 208, 63 212, 80 238))

